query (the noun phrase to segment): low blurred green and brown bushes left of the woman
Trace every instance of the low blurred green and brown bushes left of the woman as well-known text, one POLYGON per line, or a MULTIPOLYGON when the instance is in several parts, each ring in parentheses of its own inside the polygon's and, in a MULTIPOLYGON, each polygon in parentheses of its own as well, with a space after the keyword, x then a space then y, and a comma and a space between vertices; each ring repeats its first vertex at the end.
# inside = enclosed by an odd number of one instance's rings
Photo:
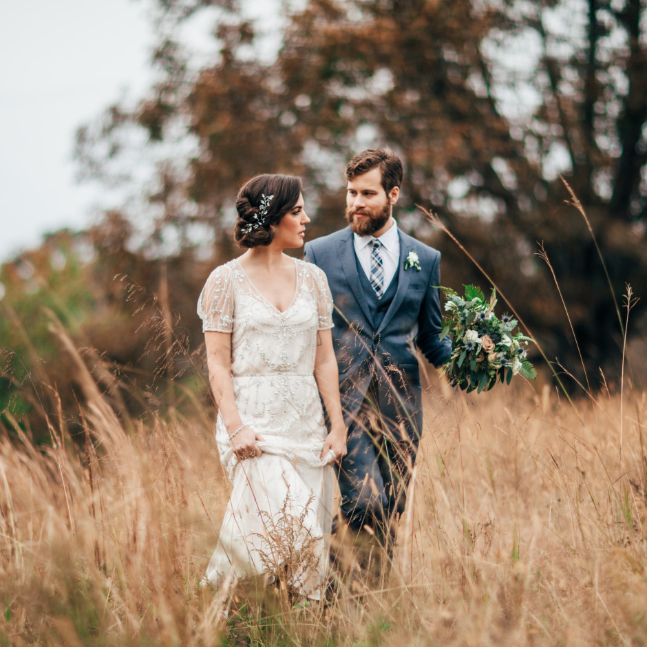
POLYGON ((50 441, 48 420, 78 432, 79 362, 118 414, 178 406, 200 390, 187 369, 200 362, 189 339, 201 337, 191 315, 206 268, 188 249, 154 259, 129 250, 130 229, 107 213, 0 267, 0 429, 18 423, 36 443, 50 441))

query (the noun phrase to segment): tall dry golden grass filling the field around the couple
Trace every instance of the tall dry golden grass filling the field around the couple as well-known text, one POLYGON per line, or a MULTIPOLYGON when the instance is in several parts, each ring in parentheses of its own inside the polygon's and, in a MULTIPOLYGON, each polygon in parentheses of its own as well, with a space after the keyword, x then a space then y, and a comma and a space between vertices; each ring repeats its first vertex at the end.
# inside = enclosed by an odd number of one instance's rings
POLYGON ((200 588, 229 494, 209 412, 118 418, 77 367, 82 443, 63 411, 46 449, 0 441, 3 644, 647 643, 645 393, 429 389, 390 579, 308 606, 200 588))

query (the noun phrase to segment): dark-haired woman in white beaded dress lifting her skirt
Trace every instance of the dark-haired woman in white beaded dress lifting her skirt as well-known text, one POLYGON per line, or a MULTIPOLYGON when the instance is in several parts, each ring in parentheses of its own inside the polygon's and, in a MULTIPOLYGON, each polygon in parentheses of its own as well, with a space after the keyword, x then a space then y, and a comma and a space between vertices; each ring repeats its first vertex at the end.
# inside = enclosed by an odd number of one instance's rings
POLYGON ((331 465, 346 454, 346 427, 326 275, 283 253, 304 244, 310 219, 301 188, 283 175, 244 184, 235 238, 247 251, 215 268, 198 301, 215 436, 233 483, 205 580, 219 587, 228 576, 266 575, 319 599, 331 465))

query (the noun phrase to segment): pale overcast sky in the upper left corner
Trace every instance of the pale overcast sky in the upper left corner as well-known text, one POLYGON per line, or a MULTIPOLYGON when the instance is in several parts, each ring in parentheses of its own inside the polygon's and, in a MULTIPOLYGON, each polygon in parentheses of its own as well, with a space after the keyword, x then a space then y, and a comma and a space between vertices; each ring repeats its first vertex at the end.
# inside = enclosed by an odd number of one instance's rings
POLYGON ((75 183, 74 132, 150 83, 145 3, 19 0, 0 21, 0 262, 62 226, 91 223, 96 186, 75 183))

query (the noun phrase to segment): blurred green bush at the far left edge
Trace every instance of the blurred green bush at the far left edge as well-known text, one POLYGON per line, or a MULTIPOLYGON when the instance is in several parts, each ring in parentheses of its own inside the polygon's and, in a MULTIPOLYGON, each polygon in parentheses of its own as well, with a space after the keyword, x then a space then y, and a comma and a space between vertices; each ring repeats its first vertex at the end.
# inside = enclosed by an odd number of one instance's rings
POLYGON ((0 268, 0 421, 11 429, 13 418, 29 432, 36 429, 37 441, 49 438, 43 418, 59 418, 56 391, 73 371, 50 326, 61 321, 77 337, 83 313, 97 307, 87 267, 74 247, 72 233, 60 231, 0 268))

